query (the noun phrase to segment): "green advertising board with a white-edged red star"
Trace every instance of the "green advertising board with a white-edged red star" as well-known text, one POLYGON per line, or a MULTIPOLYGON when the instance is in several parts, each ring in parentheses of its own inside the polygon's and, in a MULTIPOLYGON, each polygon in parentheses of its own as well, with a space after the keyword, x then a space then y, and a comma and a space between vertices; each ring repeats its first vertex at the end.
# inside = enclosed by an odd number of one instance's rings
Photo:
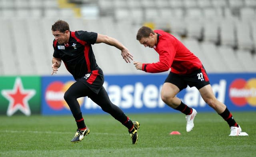
POLYGON ((38 76, 0 77, 0 114, 39 114, 41 78, 38 76))

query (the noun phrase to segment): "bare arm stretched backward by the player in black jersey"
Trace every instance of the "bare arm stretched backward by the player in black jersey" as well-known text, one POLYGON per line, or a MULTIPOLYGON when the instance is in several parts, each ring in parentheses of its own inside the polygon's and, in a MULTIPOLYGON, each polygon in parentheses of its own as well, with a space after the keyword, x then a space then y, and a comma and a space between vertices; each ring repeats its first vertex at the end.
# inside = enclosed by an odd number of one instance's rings
POLYGON ((102 43, 102 42, 105 44, 108 44, 110 46, 115 46, 116 48, 121 50, 121 55, 126 63, 128 63, 128 62, 130 63, 130 60, 133 60, 133 56, 132 56, 132 54, 130 54, 129 50, 115 38, 112 38, 112 37, 109 37, 106 35, 102 35, 102 34, 98 34, 96 44, 102 43))

